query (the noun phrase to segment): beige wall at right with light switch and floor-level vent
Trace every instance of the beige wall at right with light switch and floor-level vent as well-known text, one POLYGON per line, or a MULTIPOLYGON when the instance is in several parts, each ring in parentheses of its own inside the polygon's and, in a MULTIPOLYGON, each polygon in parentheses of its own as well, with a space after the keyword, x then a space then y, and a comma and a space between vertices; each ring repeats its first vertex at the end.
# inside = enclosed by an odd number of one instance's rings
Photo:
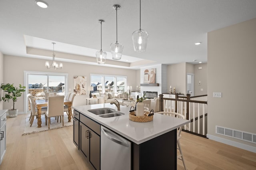
POLYGON ((208 33, 208 134, 216 125, 256 134, 256 18, 208 33), (214 98, 213 92, 222 92, 214 98))

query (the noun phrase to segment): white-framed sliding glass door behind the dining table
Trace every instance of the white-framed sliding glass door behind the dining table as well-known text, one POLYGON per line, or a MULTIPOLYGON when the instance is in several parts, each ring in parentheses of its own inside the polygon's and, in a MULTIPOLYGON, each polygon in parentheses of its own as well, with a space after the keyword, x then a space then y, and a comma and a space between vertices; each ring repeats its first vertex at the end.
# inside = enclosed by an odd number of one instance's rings
POLYGON ((31 94, 33 98, 45 99, 45 92, 57 92, 58 95, 65 95, 68 89, 68 74, 67 73, 49 73, 24 71, 24 85, 26 86, 26 94, 24 94, 24 109, 29 111, 27 94, 31 94), (54 89, 54 90, 52 90, 54 89))

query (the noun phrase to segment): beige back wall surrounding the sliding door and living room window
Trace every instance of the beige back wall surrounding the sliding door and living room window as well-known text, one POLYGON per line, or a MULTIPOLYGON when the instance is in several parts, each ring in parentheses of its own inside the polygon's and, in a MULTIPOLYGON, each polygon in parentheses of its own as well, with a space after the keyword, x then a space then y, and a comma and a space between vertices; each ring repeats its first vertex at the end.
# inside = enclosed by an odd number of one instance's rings
MULTIPOLYGON (((0 55, 1 56, 1 55, 0 55)), ((1 57, 0 57, 1 59, 1 57)), ((120 69, 113 67, 104 67, 101 65, 86 65, 79 63, 67 63, 63 62, 62 70, 46 69, 44 63, 46 60, 33 59, 28 57, 17 57, 11 55, 4 55, 4 83, 14 83, 18 86, 19 84, 24 85, 24 70, 25 71, 44 71, 44 72, 55 72, 55 73, 68 73, 68 91, 73 92, 73 77, 82 75, 87 77, 87 87, 90 86, 90 73, 94 74, 108 74, 108 75, 127 75, 127 82, 132 85, 132 88, 136 88, 136 70, 131 69, 120 69), (11 68, 9 66, 12 66, 11 68), (15 68, 15 69, 14 69, 15 68)), ((0 76, 1 76, 0 71, 0 76)), ((1 81, 1 77, 0 77, 1 81)), ((88 94, 89 96, 89 94, 88 94)), ((19 109, 19 112, 24 111, 24 95, 18 99, 15 103, 15 107, 19 109)), ((4 102, 4 109, 10 109, 12 103, 4 102)))

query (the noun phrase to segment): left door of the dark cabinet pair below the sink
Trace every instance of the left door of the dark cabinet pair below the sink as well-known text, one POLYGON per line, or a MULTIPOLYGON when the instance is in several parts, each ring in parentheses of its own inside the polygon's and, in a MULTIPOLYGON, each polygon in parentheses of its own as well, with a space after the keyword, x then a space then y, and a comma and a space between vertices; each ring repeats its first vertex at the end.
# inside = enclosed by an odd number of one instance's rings
POLYGON ((82 151, 82 153, 84 154, 84 156, 86 156, 86 158, 88 159, 88 146, 89 146, 89 140, 86 136, 86 133, 88 131, 88 127, 86 127, 84 124, 80 123, 80 150, 82 151))

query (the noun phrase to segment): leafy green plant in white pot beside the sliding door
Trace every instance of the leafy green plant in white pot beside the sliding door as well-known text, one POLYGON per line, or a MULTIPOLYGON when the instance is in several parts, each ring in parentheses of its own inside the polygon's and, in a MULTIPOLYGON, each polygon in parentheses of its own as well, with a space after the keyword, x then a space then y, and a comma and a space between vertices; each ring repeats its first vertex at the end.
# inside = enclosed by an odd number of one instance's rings
POLYGON ((13 84, 10 84, 10 83, 7 83, 7 84, 2 83, 1 84, 1 89, 7 93, 0 100, 9 102, 10 99, 12 99, 12 101, 13 101, 13 108, 8 111, 9 117, 17 116, 18 109, 15 109, 15 102, 18 100, 18 97, 20 97, 22 95, 22 92, 26 91, 25 88, 26 87, 22 86, 21 84, 19 87, 15 87, 13 84))

